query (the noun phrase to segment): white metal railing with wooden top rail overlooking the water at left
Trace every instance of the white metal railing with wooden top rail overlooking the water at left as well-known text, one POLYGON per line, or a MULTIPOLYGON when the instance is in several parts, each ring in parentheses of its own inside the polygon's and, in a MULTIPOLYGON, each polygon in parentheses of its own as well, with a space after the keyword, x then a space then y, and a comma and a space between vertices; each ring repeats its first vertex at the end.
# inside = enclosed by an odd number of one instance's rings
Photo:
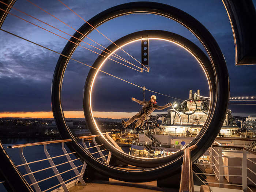
MULTIPOLYGON (((83 137, 78 137, 78 139, 82 139, 82 144, 84 146, 84 149, 92 157, 94 157, 96 159, 99 159, 99 160, 102 159, 102 161, 104 163, 109 163, 111 154, 108 153, 108 154, 104 155, 102 152, 105 152, 107 150, 106 149, 102 150, 102 149, 99 148, 100 146, 103 146, 103 144, 98 145, 96 142, 94 142, 94 146, 87 147, 85 142, 84 142, 84 139, 86 139, 86 138, 93 138, 93 140, 95 141, 95 137, 97 137, 97 136, 99 136, 99 135, 83 136, 83 137), (92 150, 92 149, 95 150, 95 148, 97 149, 97 151, 91 153, 90 150, 92 150), (96 155, 98 155, 98 156, 96 156, 96 155), (106 156, 109 156, 108 160, 106 159, 106 156)), ((64 191, 68 192, 69 191, 68 187, 70 187, 71 185, 74 185, 78 181, 80 181, 80 184, 86 185, 85 181, 83 180, 83 174, 84 174, 84 171, 86 169, 87 164, 86 164, 86 162, 81 163, 79 161, 79 158, 75 157, 76 152, 70 152, 70 153, 67 152, 67 150, 65 148, 65 143, 67 143, 67 142, 72 142, 72 140, 71 139, 66 139, 66 140, 54 140, 54 141, 46 141, 46 142, 18 144, 18 145, 8 146, 8 148, 18 148, 19 149, 19 155, 20 155, 20 158, 22 160, 22 164, 16 165, 16 167, 18 167, 19 169, 22 169, 22 167, 25 168, 26 174, 23 174, 22 176, 25 177, 25 179, 27 180, 29 185, 31 187, 33 187, 36 192, 46 192, 46 191, 49 191, 49 190, 57 188, 57 187, 59 187, 58 189, 62 188, 64 191), (47 150, 47 146, 49 144, 53 144, 53 143, 61 143, 61 148, 62 148, 63 154, 57 155, 57 156, 54 156, 54 157, 50 156, 50 154, 48 153, 48 150, 47 150), (39 160, 36 160, 36 161, 27 162, 27 160, 25 158, 25 155, 23 154, 23 148, 24 147, 30 147, 30 146, 38 146, 38 145, 43 145, 44 146, 44 153, 45 153, 46 158, 39 159, 39 160), (62 161, 62 163, 59 163, 59 164, 56 165, 54 163, 54 161, 55 161, 54 159, 59 159, 59 158, 62 158, 62 159, 60 159, 60 161, 62 161), (45 161, 49 162, 49 164, 50 164, 49 167, 45 167, 43 169, 34 170, 34 171, 31 170, 31 166, 34 163, 45 162, 45 161), (75 165, 74 162, 76 162, 76 164, 78 164, 78 165, 75 165), (69 168, 65 171, 59 172, 59 170, 60 170, 59 167, 62 166, 62 165, 69 165, 69 168), (79 169, 80 169, 80 171, 79 171, 79 169), (46 170, 52 170, 53 175, 49 176, 49 177, 46 177, 46 178, 40 178, 40 179, 35 177, 35 174, 37 174, 39 172, 44 172, 46 170), (75 174, 75 176, 64 181, 63 175, 65 173, 68 173, 68 172, 69 173, 74 172, 73 174, 75 174), (49 181, 50 179, 53 179, 53 178, 57 178, 57 184, 54 183, 56 185, 54 185, 50 188, 44 189, 42 191, 42 188, 44 188, 44 187, 42 187, 42 182, 49 181)), ((37 166, 34 165, 34 167, 37 167, 37 166)), ((62 169, 63 169, 63 167, 62 167, 62 169)), ((42 176, 42 174, 41 174, 41 176, 42 176)))

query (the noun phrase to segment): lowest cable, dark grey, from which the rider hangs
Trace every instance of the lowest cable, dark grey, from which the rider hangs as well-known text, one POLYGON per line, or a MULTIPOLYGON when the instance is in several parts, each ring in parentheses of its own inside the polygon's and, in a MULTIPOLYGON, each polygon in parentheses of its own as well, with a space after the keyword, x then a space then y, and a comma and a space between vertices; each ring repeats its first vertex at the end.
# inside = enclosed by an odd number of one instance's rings
MULTIPOLYGON (((66 58, 68 58, 68 59, 71 59, 71 60, 73 60, 73 61, 76 61, 76 62, 78 62, 78 63, 80 63, 80 64, 86 65, 87 67, 93 68, 93 69, 95 69, 95 70, 99 70, 99 71, 102 72, 102 73, 105 73, 105 74, 107 74, 107 75, 110 75, 110 76, 112 76, 112 77, 114 77, 114 78, 117 78, 117 79, 122 80, 122 81, 124 81, 124 82, 127 82, 127 83, 129 83, 129 84, 132 84, 132 85, 134 85, 134 86, 136 86, 136 87, 139 87, 140 89, 143 90, 143 87, 138 86, 138 85, 136 85, 136 84, 134 84, 134 83, 128 82, 127 80, 124 80, 124 79, 119 78, 119 77, 117 77, 117 76, 114 76, 114 75, 112 75, 112 74, 109 74, 108 72, 105 72, 105 71, 102 71, 102 70, 100 70, 100 69, 98 69, 98 68, 95 68, 95 67, 92 67, 92 66, 90 66, 90 65, 87 65, 87 64, 85 64, 85 63, 83 63, 83 62, 81 62, 81 61, 78 61, 78 60, 76 60, 76 59, 73 59, 72 57, 68 57, 68 56, 66 56, 66 55, 64 55, 64 54, 61 54, 61 53, 59 53, 59 52, 57 52, 57 51, 54 51, 54 50, 52 50, 52 49, 50 49, 50 48, 47 48, 47 47, 42 46, 42 45, 40 45, 40 44, 37 44, 37 43, 35 43, 35 42, 33 42, 33 41, 30 41, 30 40, 28 40, 28 39, 26 39, 26 38, 20 37, 19 35, 15 35, 15 34, 9 32, 9 31, 6 31, 6 30, 4 30, 4 29, 0 29, 0 30, 1 30, 1 31, 4 31, 5 33, 11 34, 11 35, 13 35, 13 36, 15 36, 15 37, 18 37, 18 38, 20 38, 20 39, 23 39, 23 40, 25 40, 25 41, 27 41, 27 42, 30 42, 30 43, 32 43, 32 44, 34 44, 34 45, 40 46, 40 47, 42 47, 42 48, 44 48, 44 49, 50 50, 50 51, 52 51, 52 52, 54 52, 54 53, 57 53, 57 54, 59 54, 59 55, 61 55, 61 56, 63 56, 63 57, 66 57, 66 58)), ((135 69, 135 70, 136 70, 136 69, 135 69)), ((149 89, 146 89, 146 90, 147 90, 147 91, 151 91, 151 92, 153 92, 153 93, 160 94, 160 95, 164 95, 164 96, 166 96, 166 97, 178 99, 178 98, 171 97, 171 96, 165 95, 165 94, 161 94, 161 93, 158 93, 158 92, 156 92, 156 91, 149 90, 149 89)), ((181 100, 181 101, 182 101, 182 99, 178 99, 178 100, 181 100)))

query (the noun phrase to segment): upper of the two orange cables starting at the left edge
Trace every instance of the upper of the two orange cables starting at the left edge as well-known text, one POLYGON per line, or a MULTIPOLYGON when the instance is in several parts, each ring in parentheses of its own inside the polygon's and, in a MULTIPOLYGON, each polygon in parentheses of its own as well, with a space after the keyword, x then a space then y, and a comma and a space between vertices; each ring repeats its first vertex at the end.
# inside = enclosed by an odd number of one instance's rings
MULTIPOLYGON (((28 0, 28 1, 29 1, 29 0, 28 0)), ((21 11, 21 10, 19 10, 19 9, 13 7, 13 6, 11 6, 11 5, 8 5, 8 4, 4 3, 3 1, 0 1, 0 3, 2 3, 2 4, 4 4, 4 5, 7 5, 8 7, 13 8, 14 10, 19 11, 19 12, 21 12, 21 13, 23 13, 23 14, 25 14, 25 15, 27 15, 27 16, 33 18, 33 19, 36 19, 36 20, 38 20, 39 22, 44 23, 45 25, 48 25, 48 26, 50 26, 50 27, 53 27, 54 29, 61 31, 62 33, 65 33, 65 34, 67 34, 67 35, 69 35, 69 36, 71 36, 71 37, 73 37, 73 38, 75 38, 75 39, 78 39, 78 38, 74 37, 73 35, 68 34, 68 33, 66 33, 65 31, 62 31, 62 30, 58 29, 57 27, 54 27, 54 26, 52 26, 52 25, 49 25, 48 23, 46 23, 46 22, 44 22, 44 21, 42 21, 42 20, 40 20, 40 19, 37 19, 37 18, 35 18, 34 16, 27 14, 26 12, 23 12, 23 11, 21 11)), ((32 2, 31 2, 31 3, 32 3, 32 2)), ((32 3, 32 4, 33 4, 33 3, 32 3)), ((35 5, 35 6, 37 6, 37 5, 35 5)), ((72 28, 72 27, 71 27, 71 28, 72 28)), ((79 32, 79 33, 80 33, 80 32, 79 32)), ((80 33, 80 34, 82 34, 82 33, 80 33)), ((83 34, 82 34, 82 35, 83 35, 83 34)), ((93 46, 93 45, 91 45, 91 44, 89 44, 89 43, 87 43, 87 42, 85 42, 85 41, 83 41, 83 40, 80 40, 80 39, 78 39, 78 40, 84 42, 84 43, 87 44, 87 45, 92 46, 92 47, 95 48, 95 49, 98 49, 98 50, 101 50, 102 52, 105 52, 105 53, 107 53, 107 54, 110 54, 110 53, 108 53, 108 52, 106 52, 106 51, 104 51, 104 50, 102 50, 102 49, 99 49, 99 48, 97 48, 97 47, 95 47, 95 46, 93 46)), ((92 39, 91 39, 91 40, 92 40, 92 39)), ((92 40, 92 41, 93 41, 93 40, 92 40)), ((99 45, 99 44, 98 44, 98 45, 99 45)), ((103 47, 103 48, 104 48, 104 47, 103 47)), ((116 55, 117 55, 117 54, 116 54, 116 55)), ((117 55, 117 56, 118 56, 118 55, 117 55)), ((113 57, 116 57, 116 56, 113 55, 113 57)), ((118 56, 118 57, 116 57, 116 58, 117 58, 117 59, 120 59, 120 60, 122 60, 122 61, 124 61, 124 62, 126 62, 126 63, 129 63, 129 64, 131 64, 131 65, 133 65, 133 66, 135 66, 135 67, 137 67, 137 68, 139 68, 139 69, 141 69, 141 67, 138 67, 138 66, 136 66, 136 65, 134 65, 134 64, 132 64, 132 63, 130 63, 129 61, 123 59, 123 58, 120 57, 120 56, 118 56)), ((144 69, 144 71, 147 71, 147 70, 144 69)))

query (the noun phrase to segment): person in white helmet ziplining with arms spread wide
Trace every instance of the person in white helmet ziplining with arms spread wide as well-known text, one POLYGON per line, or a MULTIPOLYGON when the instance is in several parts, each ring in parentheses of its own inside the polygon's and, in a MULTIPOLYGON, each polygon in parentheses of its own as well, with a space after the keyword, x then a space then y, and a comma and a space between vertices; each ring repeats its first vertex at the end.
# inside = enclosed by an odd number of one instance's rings
POLYGON ((128 121, 124 121, 122 119, 122 124, 123 124, 123 127, 126 128, 129 124, 131 124, 133 121, 135 120, 138 120, 136 123, 135 123, 135 128, 138 127, 140 124, 142 124, 142 122, 144 120, 147 119, 148 116, 150 116, 150 114, 155 110, 162 110, 162 109, 165 109, 167 107, 170 107, 172 106, 172 103, 167 103, 166 105, 164 106, 158 106, 157 105, 157 97, 155 95, 152 95, 150 97, 150 101, 140 101, 138 99, 135 99, 135 98, 132 98, 132 101, 135 101, 137 103, 139 103, 140 105, 143 105, 142 107, 142 110, 140 110, 139 113, 137 113, 135 116, 133 116, 132 118, 130 118, 128 121))

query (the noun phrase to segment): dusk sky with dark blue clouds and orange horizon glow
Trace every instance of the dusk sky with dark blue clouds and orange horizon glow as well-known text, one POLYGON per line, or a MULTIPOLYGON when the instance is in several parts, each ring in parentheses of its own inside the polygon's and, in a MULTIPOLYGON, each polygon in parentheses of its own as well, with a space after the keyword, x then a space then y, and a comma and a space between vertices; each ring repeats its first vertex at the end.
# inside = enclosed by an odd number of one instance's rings
MULTIPOLYGON (((39 7, 56 16, 63 22, 79 29, 84 24, 73 12, 68 10, 58 0, 31 0, 39 7)), ((128 0, 63 0, 83 19, 89 20, 94 15, 118 4, 128 3, 128 0)), ((195 17, 214 36, 225 57, 230 78, 231 97, 256 95, 256 65, 235 66, 234 39, 225 7, 221 0, 158 0, 177 7, 195 17)), ((254 5, 256 0, 253 0, 254 5)), ((26 12, 68 34, 75 31, 52 16, 41 11, 26 0, 16 1, 15 8, 26 12)), ((69 39, 64 34, 38 20, 30 18, 14 9, 12 14, 20 16, 30 22, 69 39)), ((37 26, 33 26, 13 15, 8 15, 2 29, 10 31, 35 43, 61 52, 67 40, 51 34, 37 26)), ((132 14, 112 19, 97 28, 112 41, 141 30, 165 30, 182 35, 203 49, 202 44, 185 27, 173 20, 148 14, 132 14)), ((108 39, 97 31, 88 37, 104 47, 111 44, 108 39)), ((51 83, 55 65, 59 54, 50 52, 33 45, 20 38, 0 31, 0 117, 33 117, 52 118, 51 112, 51 83)), ((101 48, 99 45, 85 38, 83 41, 101 48)), ((80 45, 95 52, 101 51, 82 42, 80 45)), ((101 48, 102 49, 102 48, 101 48)), ((140 42, 129 44, 123 48, 137 60, 141 60, 140 42)), ((140 67, 140 64, 118 50, 118 55, 140 67)), ((93 65, 98 54, 79 46, 72 58, 87 65, 93 65)), ((111 57, 115 59, 114 57, 111 57)), ((119 60, 120 61, 120 60, 119 60)), ((200 90, 201 95, 209 96, 206 76, 200 65, 183 48, 166 41, 150 40, 149 48, 150 72, 140 73, 114 61, 108 60, 102 70, 125 79, 138 86, 170 95, 179 99, 187 99, 189 90, 200 90)), ((123 63, 123 62, 122 62, 123 63)), ((83 88, 90 68, 70 61, 65 72, 62 91, 62 105, 65 117, 75 118, 83 116, 83 88)), ((132 97, 143 100, 142 90, 125 83, 112 76, 99 73, 93 89, 93 111, 95 117, 127 118, 138 112, 141 106, 131 101, 132 97)), ((153 93, 146 91, 149 100, 153 93)), ((158 105, 165 105, 175 99, 155 94, 158 105)), ((181 102, 181 101, 177 101, 181 102)), ((230 101, 230 103, 246 103, 230 101)), ((249 102, 247 102, 248 104, 249 102)), ((251 102, 253 103, 253 102, 251 102)), ((255 102, 254 102, 255 103, 255 102)), ((256 105, 229 105, 233 114, 241 116, 256 116, 256 105)), ((155 111, 166 113, 166 110, 155 111)))

